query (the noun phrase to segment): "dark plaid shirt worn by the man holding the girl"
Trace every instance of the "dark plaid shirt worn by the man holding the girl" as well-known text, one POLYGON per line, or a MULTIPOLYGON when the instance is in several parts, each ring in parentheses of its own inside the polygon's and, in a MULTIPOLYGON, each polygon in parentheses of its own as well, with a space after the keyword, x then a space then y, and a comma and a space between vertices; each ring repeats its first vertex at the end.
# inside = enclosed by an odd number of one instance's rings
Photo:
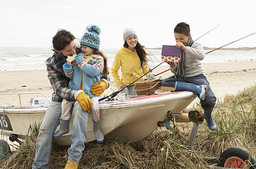
MULTIPOLYGON (((79 54, 81 48, 76 49, 76 53, 79 54)), ((68 88, 68 82, 70 79, 66 77, 63 71, 63 64, 66 63, 67 56, 59 55, 54 52, 53 56, 49 57, 45 64, 47 66, 47 77, 53 86, 53 95, 51 101, 61 102, 63 99, 67 101, 75 101, 75 93, 77 90, 68 88)), ((102 76, 109 83, 109 78, 102 76)), ((109 85, 107 85, 109 86, 109 85)))

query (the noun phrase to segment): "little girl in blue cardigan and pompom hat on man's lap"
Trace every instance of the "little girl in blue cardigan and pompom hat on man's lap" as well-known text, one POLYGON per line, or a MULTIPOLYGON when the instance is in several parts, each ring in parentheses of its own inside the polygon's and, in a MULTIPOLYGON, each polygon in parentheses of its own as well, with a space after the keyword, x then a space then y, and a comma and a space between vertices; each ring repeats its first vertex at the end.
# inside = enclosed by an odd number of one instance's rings
MULTIPOLYGON (((67 61, 63 65, 63 70, 71 81, 68 87, 83 90, 86 95, 92 100, 92 118, 93 118, 93 132, 98 143, 104 140, 104 136, 99 129, 100 114, 98 97, 94 96, 90 90, 94 83, 100 82, 102 74, 108 75, 106 56, 99 51, 99 29, 96 25, 89 25, 81 38, 80 45, 82 53, 75 57, 72 63, 67 61)), ((70 124, 70 109, 73 102, 68 100, 62 101, 62 116, 60 117, 60 128, 54 132, 53 137, 59 137, 69 131, 70 124)))

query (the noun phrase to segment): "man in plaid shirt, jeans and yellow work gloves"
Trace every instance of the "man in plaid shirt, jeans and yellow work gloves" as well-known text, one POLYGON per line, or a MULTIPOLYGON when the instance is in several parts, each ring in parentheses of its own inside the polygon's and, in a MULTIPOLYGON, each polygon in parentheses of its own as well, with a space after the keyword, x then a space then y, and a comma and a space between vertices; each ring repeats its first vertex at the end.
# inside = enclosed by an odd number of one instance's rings
MULTIPOLYGON (((68 148, 68 161, 65 168, 77 168, 84 150, 86 141, 86 128, 88 122, 88 110, 92 108, 92 101, 83 90, 68 88, 70 79, 63 71, 63 64, 67 56, 79 54, 81 48, 75 46, 75 37, 67 30, 60 29, 53 37, 54 54, 46 60, 48 78, 53 86, 51 104, 47 108, 45 117, 39 129, 36 144, 36 157, 32 168, 49 168, 51 142, 53 132, 59 125, 62 100, 75 101, 72 109, 73 132, 72 144, 68 148)), ((109 86, 109 80, 103 76, 101 82, 92 86, 93 95, 101 95, 109 86)))

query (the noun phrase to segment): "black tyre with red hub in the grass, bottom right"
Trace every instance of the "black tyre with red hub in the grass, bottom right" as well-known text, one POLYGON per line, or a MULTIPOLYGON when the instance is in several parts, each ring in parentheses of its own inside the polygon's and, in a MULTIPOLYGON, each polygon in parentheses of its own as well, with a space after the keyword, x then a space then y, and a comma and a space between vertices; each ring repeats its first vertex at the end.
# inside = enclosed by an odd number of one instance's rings
MULTIPOLYGON (((219 157, 219 167, 232 167, 232 168, 244 168, 249 159, 248 150, 240 147, 231 147, 225 149, 219 157)), ((251 155, 250 157, 250 169, 256 168, 256 159, 251 155)))

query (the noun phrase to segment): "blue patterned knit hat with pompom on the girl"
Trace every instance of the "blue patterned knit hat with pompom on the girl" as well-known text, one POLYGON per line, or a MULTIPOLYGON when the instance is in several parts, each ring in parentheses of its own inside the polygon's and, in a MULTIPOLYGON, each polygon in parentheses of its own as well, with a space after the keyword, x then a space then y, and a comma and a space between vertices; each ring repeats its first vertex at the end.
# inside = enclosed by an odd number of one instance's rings
POLYGON ((80 44, 89 46, 92 48, 99 49, 99 33, 101 33, 101 29, 96 25, 89 25, 85 29, 85 33, 81 38, 80 44))

